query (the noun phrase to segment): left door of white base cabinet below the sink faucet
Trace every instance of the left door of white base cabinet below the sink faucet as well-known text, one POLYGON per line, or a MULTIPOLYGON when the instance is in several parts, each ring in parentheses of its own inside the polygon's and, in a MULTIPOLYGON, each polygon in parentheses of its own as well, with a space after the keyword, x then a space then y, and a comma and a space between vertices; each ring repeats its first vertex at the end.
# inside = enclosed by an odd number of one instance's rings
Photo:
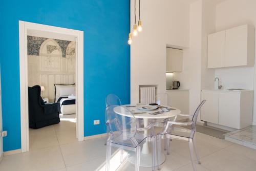
POLYGON ((201 120, 219 123, 219 95, 214 91, 202 91, 202 100, 206 100, 201 109, 201 120))

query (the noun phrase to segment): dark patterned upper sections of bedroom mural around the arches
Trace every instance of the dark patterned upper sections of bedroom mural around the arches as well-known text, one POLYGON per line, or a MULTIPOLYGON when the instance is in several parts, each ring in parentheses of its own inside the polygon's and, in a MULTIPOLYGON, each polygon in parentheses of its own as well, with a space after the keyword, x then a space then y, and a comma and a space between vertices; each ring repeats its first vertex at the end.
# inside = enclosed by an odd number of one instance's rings
MULTIPOLYGON (((46 37, 28 36, 28 55, 39 55, 40 47, 41 47, 42 43, 47 39, 48 38, 46 38, 46 37)), ((53 40, 55 40, 57 42, 57 44, 59 45, 61 52, 62 52, 62 57, 66 57, 67 47, 71 41, 59 40, 59 39, 53 39, 53 40)), ((49 52, 52 50, 52 48, 54 48, 54 47, 49 46, 49 52)))

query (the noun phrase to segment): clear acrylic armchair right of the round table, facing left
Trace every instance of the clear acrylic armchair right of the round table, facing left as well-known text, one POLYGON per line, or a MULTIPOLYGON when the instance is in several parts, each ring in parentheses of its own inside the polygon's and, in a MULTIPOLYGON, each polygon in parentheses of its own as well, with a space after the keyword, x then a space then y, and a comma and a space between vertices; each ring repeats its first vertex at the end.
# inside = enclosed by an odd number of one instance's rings
MULTIPOLYGON (((186 140, 189 142, 189 151, 190 151, 190 159, 191 159, 191 163, 193 165, 193 169, 196 170, 196 165, 194 163, 193 160, 193 154, 195 151, 195 155, 197 158, 197 163, 201 164, 201 162, 199 161, 199 157, 198 157, 198 153, 197 153, 197 147, 196 147, 196 141, 195 141, 195 133, 196 133, 196 123, 197 123, 197 117, 199 115, 199 112, 202 108, 202 105, 205 103, 206 100, 203 100, 196 112, 194 113, 194 115, 183 115, 180 114, 178 116, 187 116, 187 117, 192 117, 192 120, 189 122, 177 122, 177 116, 175 117, 175 119, 173 121, 167 121, 166 126, 164 127, 164 130, 158 134, 157 136, 157 163, 160 153, 161 153, 161 137, 163 137, 164 135, 166 135, 167 139, 180 139, 180 140, 186 140), (179 125, 179 126, 175 126, 175 125, 179 125), (191 125, 191 130, 185 129, 184 127, 181 126, 185 126, 185 125, 191 125)), ((170 146, 169 146, 169 140, 166 141, 167 143, 167 155, 170 152, 170 146)), ((158 164, 157 164, 158 165, 158 164)), ((160 168, 158 168, 160 169, 160 168)))

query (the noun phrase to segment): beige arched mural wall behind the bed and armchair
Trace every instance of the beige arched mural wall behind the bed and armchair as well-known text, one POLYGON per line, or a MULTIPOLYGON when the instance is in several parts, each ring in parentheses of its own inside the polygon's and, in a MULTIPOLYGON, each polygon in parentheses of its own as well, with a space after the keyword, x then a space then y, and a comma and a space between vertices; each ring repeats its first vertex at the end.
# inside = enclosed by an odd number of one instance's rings
POLYGON ((28 36, 28 86, 45 87, 43 97, 54 101, 54 84, 76 82, 76 42, 28 36))

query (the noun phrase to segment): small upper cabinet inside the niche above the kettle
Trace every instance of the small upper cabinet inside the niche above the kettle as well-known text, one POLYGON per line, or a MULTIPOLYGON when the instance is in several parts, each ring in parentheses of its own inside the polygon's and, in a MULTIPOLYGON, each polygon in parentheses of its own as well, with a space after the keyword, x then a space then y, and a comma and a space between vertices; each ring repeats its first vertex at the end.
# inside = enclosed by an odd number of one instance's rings
POLYGON ((166 72, 182 72, 182 50, 166 48, 166 72))

